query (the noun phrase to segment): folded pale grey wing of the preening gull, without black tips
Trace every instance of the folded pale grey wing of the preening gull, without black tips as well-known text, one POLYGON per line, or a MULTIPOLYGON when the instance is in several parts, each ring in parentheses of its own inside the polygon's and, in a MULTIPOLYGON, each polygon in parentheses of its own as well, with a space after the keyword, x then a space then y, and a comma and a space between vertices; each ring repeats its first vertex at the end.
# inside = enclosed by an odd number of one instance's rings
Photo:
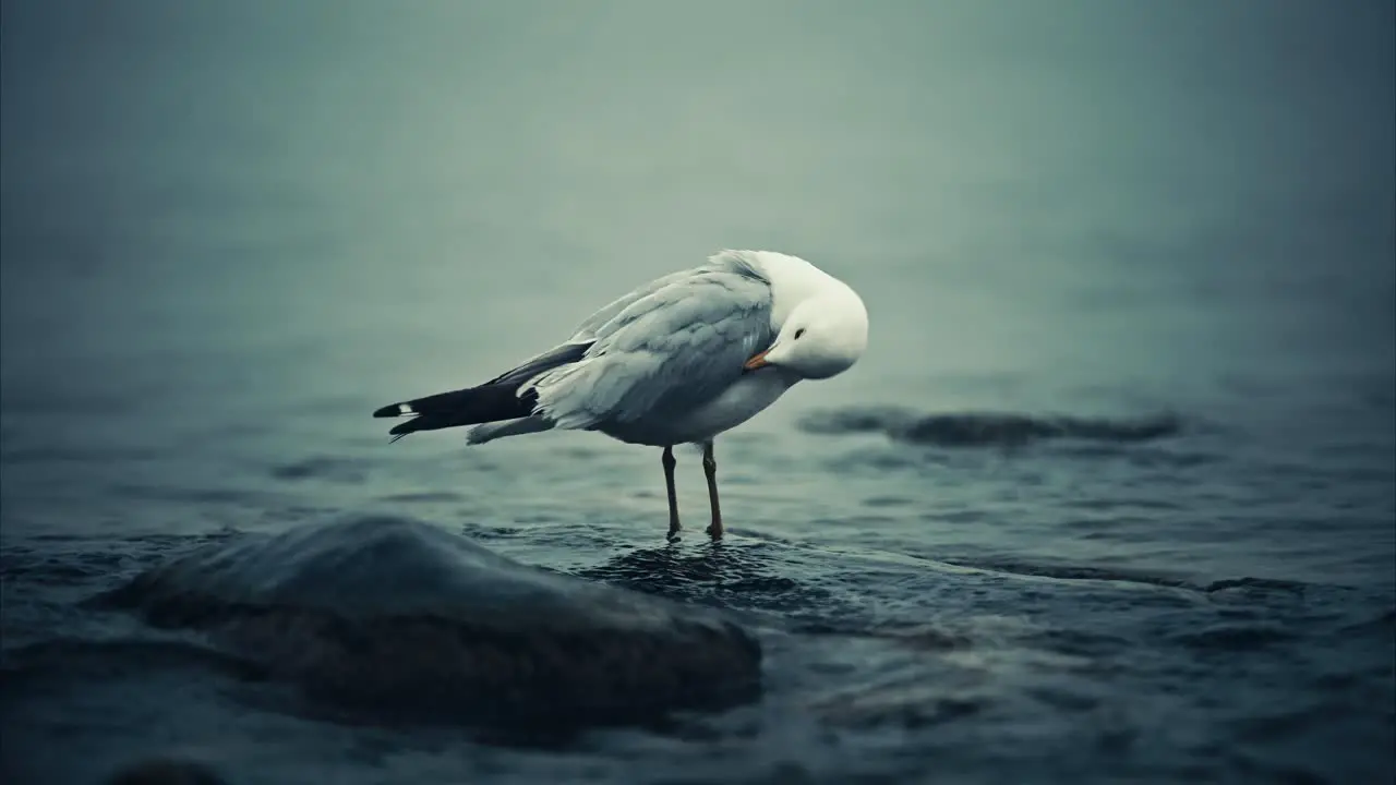
POLYGON ((708 265, 646 289, 584 323, 595 338, 579 360, 521 390, 537 392, 537 411, 557 427, 685 411, 726 390, 771 345, 771 285, 751 270, 708 265))

